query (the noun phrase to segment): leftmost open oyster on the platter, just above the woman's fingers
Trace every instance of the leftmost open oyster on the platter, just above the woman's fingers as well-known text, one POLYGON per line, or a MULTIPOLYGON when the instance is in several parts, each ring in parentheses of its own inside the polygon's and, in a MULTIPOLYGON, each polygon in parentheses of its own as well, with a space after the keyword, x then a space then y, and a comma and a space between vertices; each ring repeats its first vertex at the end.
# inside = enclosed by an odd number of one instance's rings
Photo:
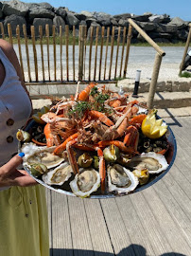
POLYGON ((25 147, 22 152, 27 152, 25 157, 26 164, 30 163, 41 163, 44 164, 47 169, 54 168, 64 161, 64 158, 60 155, 53 155, 55 147, 32 147, 30 143, 28 145, 30 151, 28 153, 28 148, 25 147))

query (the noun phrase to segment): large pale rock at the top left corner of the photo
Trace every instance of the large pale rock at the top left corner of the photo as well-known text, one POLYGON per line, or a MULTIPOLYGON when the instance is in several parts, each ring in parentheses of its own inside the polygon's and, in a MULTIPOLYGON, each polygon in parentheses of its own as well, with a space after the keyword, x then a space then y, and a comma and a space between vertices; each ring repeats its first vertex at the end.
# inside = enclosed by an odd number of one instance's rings
POLYGON ((28 6, 26 3, 20 2, 19 0, 12 0, 5 2, 2 10, 5 16, 15 14, 25 17, 28 11, 28 6))

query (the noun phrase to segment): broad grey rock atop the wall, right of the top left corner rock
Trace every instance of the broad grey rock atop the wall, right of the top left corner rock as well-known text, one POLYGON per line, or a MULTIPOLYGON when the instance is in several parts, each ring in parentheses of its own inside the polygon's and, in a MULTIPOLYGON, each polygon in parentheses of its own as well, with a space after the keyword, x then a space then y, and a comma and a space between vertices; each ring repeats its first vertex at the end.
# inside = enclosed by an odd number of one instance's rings
POLYGON ((47 18, 53 19, 55 13, 50 9, 43 9, 43 8, 33 8, 29 10, 28 18, 29 20, 33 20, 34 18, 47 18))

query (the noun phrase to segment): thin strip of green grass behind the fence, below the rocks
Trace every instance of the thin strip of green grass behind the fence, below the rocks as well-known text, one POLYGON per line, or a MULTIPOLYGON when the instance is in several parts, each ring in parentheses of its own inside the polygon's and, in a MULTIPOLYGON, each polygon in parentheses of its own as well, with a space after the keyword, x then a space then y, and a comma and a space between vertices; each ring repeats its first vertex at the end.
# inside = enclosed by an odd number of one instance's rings
MULTIPOLYGON (((9 41, 9 37, 6 37, 5 38, 7 41, 9 41)), ((70 32, 69 33, 69 37, 68 37, 68 45, 73 45, 73 35, 72 35, 72 33, 70 32)), ((18 41, 17 41, 17 38, 16 37, 12 37, 12 42, 13 42, 13 44, 17 44, 18 43, 18 41)), ((25 38, 23 38, 23 37, 21 37, 20 38, 20 42, 21 42, 21 44, 25 44, 25 38)), ((36 39, 36 45, 40 45, 40 39, 39 38, 37 38, 36 39)), ((53 45, 53 42, 54 42, 54 39, 53 39, 53 37, 49 37, 49 45, 53 45)), ((28 43, 28 45, 32 45, 32 39, 30 38, 30 37, 28 37, 27 38, 27 43, 28 43)), ((46 37, 43 37, 43 40, 42 40, 42 43, 43 43, 43 45, 46 45, 47 44, 47 39, 46 39, 46 37)), ((56 43, 56 45, 60 45, 60 43, 61 43, 61 39, 60 39, 60 37, 59 36, 56 36, 55 37, 55 43, 56 43)), ((65 45, 65 43, 66 43, 66 40, 65 40, 65 37, 62 37, 62 45, 64 46, 65 45)), ((75 38, 75 45, 77 46, 78 45, 78 37, 76 37, 75 38)), ((86 42, 86 45, 87 46, 89 46, 90 45, 90 42, 89 41, 87 41, 86 42)), ((94 40, 94 43, 93 43, 93 45, 95 45, 95 40, 94 40)), ((101 41, 100 40, 98 40, 98 46, 100 46, 101 45, 101 41)), ((104 40, 104 46, 106 45, 106 40, 104 40)), ((111 43, 109 43, 109 46, 111 45, 111 43)), ((172 43, 169 43, 169 44, 166 44, 166 43, 157 43, 157 45, 158 46, 185 46, 185 43, 184 42, 179 42, 179 43, 176 43, 176 44, 172 44, 172 43)), ((114 40, 114 46, 117 46, 117 40, 114 40)), ((122 43, 120 43, 120 46, 122 46, 122 43)), ((150 46, 147 42, 144 42, 144 43, 142 43, 142 42, 140 42, 140 43, 131 43, 130 44, 130 46, 150 46)))

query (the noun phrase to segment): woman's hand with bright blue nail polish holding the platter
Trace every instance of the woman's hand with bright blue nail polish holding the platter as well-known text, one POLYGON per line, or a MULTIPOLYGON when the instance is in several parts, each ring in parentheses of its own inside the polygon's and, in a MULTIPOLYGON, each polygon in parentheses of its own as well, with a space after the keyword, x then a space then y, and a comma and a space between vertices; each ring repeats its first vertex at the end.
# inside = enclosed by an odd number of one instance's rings
POLYGON ((22 164, 22 162, 22 157, 15 155, 9 160, 7 164, 0 167, 0 187, 27 187, 37 184, 35 179, 27 174, 26 171, 16 169, 20 164, 22 164))

